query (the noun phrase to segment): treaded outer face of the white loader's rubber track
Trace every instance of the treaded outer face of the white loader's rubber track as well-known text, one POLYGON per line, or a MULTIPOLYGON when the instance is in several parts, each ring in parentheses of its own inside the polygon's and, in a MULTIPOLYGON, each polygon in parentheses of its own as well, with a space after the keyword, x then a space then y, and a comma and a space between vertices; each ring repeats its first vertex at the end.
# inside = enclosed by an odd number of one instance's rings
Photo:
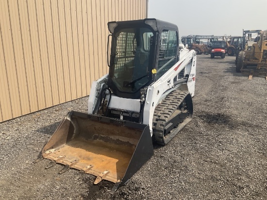
POLYGON ((190 94, 188 91, 175 90, 155 108, 152 130, 157 143, 165 145, 164 129, 166 123, 188 94, 190 94))

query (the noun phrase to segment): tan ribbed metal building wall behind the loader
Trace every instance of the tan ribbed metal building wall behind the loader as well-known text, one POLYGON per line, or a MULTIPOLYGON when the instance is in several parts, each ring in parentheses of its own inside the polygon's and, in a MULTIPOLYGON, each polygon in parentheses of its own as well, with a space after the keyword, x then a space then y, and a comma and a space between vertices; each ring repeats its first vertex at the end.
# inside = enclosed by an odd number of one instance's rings
POLYGON ((146 13, 147 0, 0 0, 0 122, 89 95, 107 22, 146 13))

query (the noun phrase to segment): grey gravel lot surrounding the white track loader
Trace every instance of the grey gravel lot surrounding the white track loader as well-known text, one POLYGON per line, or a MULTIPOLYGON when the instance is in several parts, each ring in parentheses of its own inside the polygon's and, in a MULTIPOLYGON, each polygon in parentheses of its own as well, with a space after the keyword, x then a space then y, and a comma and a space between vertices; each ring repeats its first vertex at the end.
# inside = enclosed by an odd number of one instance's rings
POLYGON ((267 81, 235 73, 234 56, 198 55, 193 120, 111 196, 113 183, 33 164, 69 110, 87 98, 0 123, 0 199, 267 199, 267 81))

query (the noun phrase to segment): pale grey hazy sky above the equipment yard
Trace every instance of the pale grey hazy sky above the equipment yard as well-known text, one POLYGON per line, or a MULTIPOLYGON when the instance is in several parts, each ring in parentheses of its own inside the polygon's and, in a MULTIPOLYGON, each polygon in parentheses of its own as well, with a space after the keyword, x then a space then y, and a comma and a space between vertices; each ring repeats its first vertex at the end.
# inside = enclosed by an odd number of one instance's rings
POLYGON ((148 17, 174 23, 179 36, 267 30, 267 0, 149 0, 148 17))

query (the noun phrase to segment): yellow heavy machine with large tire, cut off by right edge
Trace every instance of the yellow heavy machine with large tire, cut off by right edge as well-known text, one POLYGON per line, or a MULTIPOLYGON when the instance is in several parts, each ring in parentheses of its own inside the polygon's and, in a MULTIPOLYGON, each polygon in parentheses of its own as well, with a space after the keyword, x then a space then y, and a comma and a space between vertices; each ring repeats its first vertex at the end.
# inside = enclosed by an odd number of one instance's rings
POLYGON ((262 75, 267 80, 267 31, 257 32, 257 36, 246 38, 244 50, 238 53, 236 59, 236 72, 262 75))

